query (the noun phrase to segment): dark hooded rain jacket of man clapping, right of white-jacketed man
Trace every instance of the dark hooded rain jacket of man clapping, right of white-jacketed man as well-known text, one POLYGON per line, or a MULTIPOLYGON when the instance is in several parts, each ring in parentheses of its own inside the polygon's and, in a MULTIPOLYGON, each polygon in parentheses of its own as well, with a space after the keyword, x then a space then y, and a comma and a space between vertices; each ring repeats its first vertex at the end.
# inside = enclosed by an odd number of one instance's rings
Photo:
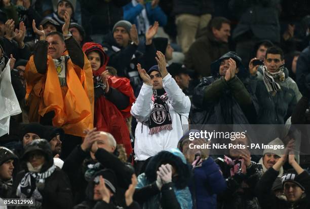
POLYGON ((212 77, 204 77, 195 88, 190 120, 193 124, 249 124, 254 123, 258 111, 254 95, 255 82, 247 77, 246 69, 234 53, 226 53, 212 63, 212 77), (239 73, 228 82, 219 77, 219 62, 236 59, 239 73))

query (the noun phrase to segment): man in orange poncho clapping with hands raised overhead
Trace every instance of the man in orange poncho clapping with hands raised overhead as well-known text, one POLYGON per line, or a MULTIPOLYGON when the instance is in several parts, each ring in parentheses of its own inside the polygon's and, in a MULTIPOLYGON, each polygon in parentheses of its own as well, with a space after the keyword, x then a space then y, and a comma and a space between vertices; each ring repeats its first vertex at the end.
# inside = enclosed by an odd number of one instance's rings
POLYGON ((26 99, 30 122, 61 127, 66 135, 62 158, 82 141, 85 129, 93 128, 94 89, 92 69, 79 44, 69 32, 65 13, 63 34, 45 34, 42 26, 33 31, 40 37, 26 66, 26 99))

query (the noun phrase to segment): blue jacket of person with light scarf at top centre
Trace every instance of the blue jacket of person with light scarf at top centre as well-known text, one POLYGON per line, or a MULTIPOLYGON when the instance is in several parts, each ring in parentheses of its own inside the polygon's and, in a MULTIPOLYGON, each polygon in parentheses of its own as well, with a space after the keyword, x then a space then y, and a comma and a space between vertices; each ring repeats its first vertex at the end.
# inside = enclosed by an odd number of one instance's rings
MULTIPOLYGON (((124 20, 137 25, 137 16, 142 12, 143 6, 138 4, 136 7, 132 3, 129 3, 123 7, 124 10, 124 20)), ((157 6, 152 9, 151 3, 145 4, 146 15, 150 25, 153 25, 155 21, 158 21, 160 26, 165 26, 167 24, 167 15, 163 10, 157 6)))

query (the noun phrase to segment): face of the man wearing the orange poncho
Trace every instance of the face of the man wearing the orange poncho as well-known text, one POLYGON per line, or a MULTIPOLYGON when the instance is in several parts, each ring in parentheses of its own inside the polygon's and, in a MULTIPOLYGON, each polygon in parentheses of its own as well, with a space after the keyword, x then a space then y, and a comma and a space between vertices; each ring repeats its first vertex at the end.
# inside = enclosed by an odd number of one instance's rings
POLYGON ((60 37, 56 34, 53 36, 48 36, 46 41, 49 43, 48 55, 50 55, 53 59, 61 57, 66 49, 66 45, 60 37))

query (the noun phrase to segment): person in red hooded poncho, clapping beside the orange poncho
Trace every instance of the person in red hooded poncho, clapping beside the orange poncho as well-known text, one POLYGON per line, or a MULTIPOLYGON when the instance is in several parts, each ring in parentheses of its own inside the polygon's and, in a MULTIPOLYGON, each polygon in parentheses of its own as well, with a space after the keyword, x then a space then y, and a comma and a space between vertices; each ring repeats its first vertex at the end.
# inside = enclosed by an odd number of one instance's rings
POLYGON ((130 109, 135 101, 130 81, 127 78, 109 75, 105 69, 109 58, 100 44, 87 42, 83 45, 83 51, 93 71, 94 126, 97 130, 111 133, 118 144, 124 145, 129 156, 132 147, 125 119, 131 116, 130 109))

